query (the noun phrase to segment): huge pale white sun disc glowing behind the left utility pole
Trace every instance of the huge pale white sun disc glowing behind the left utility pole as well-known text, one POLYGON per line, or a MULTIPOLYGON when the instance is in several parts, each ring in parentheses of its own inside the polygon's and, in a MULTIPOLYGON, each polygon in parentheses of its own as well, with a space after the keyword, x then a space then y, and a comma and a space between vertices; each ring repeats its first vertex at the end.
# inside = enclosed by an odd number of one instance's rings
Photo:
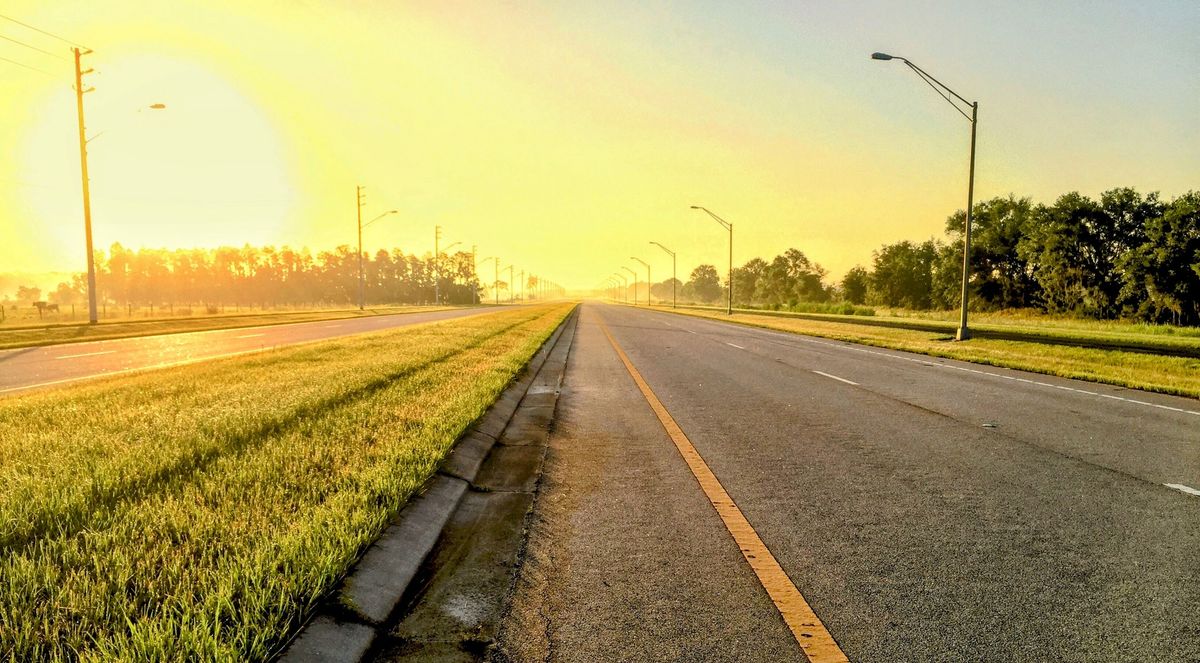
MULTIPOLYGON (((296 205, 268 110, 205 62, 128 54, 90 64, 95 246, 272 244, 296 205)), ((83 255, 74 95, 42 100, 18 153, 28 216, 52 253, 83 255)))

